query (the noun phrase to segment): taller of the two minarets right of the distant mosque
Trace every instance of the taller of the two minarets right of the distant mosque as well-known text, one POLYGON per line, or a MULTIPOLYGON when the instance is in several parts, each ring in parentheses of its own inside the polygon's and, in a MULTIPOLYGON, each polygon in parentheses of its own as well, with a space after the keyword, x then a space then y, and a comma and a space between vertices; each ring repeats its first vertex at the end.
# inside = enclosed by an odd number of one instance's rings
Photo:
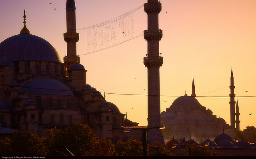
POLYGON ((234 94, 234 89, 235 89, 235 86, 234 86, 234 77, 233 77, 233 71, 231 69, 231 78, 230 78, 230 125, 231 125, 231 128, 235 128, 235 96, 236 94, 234 94))

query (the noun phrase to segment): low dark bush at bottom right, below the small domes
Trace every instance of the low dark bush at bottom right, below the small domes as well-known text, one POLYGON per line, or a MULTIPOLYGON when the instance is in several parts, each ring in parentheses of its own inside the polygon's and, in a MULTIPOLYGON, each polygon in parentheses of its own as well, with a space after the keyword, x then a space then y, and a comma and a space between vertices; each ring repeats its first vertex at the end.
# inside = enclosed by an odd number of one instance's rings
POLYGON ((200 145, 186 146, 182 151, 184 151, 186 155, 190 156, 218 156, 218 153, 213 152, 206 146, 202 147, 200 145))

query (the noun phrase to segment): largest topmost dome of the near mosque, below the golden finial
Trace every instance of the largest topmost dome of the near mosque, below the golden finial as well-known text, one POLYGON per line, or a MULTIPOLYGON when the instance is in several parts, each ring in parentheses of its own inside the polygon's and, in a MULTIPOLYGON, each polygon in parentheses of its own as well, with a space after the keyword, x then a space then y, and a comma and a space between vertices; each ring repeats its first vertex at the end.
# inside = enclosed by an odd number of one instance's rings
POLYGON ((52 61, 61 63, 54 47, 46 40, 30 33, 20 33, 0 43, 0 59, 10 61, 52 61))

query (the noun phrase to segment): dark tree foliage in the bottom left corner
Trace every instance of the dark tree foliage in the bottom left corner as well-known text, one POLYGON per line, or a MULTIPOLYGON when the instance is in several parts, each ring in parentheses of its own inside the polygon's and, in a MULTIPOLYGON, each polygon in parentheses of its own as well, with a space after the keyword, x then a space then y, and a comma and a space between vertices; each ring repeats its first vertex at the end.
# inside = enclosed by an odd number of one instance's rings
POLYGON ((22 130, 13 133, 13 138, 0 141, 0 154, 3 156, 45 156, 48 147, 44 143, 44 137, 35 135, 32 131, 23 133, 22 130))

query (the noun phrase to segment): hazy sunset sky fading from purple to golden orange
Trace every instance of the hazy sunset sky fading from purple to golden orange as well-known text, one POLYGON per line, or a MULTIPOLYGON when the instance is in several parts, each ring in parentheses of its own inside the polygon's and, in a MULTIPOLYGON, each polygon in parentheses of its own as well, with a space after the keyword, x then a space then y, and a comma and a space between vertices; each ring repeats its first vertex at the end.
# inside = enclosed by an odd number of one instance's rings
MULTIPOLYGON (((147 0, 75 2, 76 28, 79 29, 116 18, 147 0)), ((240 129, 256 127, 256 0, 161 0, 161 3, 159 28, 163 30, 163 38, 160 53, 164 57, 160 68, 161 111, 170 107, 185 91, 192 94, 194 77, 200 104, 230 124, 232 68, 240 129)), ((25 8, 30 33, 50 42, 63 62, 66 55, 65 7, 66 0, 0 0, 0 42, 20 33, 25 8)), ((147 29, 147 14, 140 8, 134 16, 136 36, 147 29)), ((80 63, 88 70, 87 84, 103 95, 105 91, 106 100, 116 104, 123 114, 127 112, 129 120, 146 126, 147 68, 143 57, 147 53, 147 41, 140 36, 86 55, 86 30, 77 32, 80 33, 77 55, 81 55, 80 63)))

